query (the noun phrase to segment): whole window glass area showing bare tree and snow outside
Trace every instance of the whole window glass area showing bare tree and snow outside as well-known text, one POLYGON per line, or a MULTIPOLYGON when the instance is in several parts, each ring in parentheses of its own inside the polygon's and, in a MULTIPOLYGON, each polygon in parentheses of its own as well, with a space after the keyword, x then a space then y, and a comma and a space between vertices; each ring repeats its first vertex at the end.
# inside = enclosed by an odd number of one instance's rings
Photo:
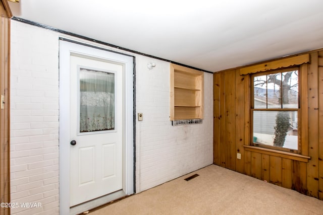
POLYGON ((253 143, 298 150, 298 69, 252 76, 253 143))

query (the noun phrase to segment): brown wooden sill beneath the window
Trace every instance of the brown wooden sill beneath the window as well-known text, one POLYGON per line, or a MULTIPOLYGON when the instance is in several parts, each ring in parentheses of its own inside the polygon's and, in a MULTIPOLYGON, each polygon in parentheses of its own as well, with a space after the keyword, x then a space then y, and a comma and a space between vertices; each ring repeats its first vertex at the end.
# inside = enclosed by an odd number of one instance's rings
POLYGON ((260 147, 252 147, 252 146, 243 146, 243 147, 245 148, 246 151, 257 152, 265 155, 272 155, 280 158, 287 158, 287 159, 301 161, 305 163, 308 163, 308 160, 311 159, 308 156, 298 155, 298 154, 289 153, 289 152, 281 152, 277 150, 265 149, 260 147))

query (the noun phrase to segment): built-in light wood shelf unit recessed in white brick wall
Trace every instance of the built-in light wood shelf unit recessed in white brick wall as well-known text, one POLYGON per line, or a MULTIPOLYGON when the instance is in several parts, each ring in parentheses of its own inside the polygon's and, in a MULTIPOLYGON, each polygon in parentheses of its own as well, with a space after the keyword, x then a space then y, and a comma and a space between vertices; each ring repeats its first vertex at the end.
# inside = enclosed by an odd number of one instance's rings
POLYGON ((202 119, 204 73, 171 64, 170 119, 202 119))

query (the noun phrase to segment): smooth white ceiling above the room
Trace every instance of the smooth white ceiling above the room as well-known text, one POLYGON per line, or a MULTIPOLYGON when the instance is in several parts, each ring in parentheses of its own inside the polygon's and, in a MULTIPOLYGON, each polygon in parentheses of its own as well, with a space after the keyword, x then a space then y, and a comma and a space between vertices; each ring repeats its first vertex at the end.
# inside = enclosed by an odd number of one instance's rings
POLYGON ((15 17, 208 71, 323 48, 322 0, 20 0, 15 17))

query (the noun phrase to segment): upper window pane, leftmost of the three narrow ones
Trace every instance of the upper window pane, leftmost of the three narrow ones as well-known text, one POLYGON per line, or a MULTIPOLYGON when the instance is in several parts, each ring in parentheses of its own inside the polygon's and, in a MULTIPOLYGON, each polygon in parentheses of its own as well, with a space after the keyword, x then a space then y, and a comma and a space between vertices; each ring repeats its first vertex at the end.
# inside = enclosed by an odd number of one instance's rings
POLYGON ((254 108, 267 108, 267 77, 254 77, 253 86, 254 108))

